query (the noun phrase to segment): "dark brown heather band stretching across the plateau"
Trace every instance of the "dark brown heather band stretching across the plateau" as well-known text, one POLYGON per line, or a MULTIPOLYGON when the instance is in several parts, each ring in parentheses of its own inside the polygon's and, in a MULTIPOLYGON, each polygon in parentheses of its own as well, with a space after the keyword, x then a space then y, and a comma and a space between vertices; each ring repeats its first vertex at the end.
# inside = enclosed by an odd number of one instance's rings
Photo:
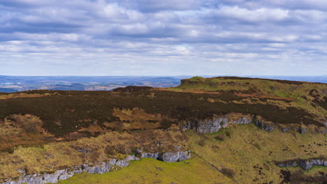
POLYGON ((164 117, 157 121, 159 128, 168 128, 172 123, 183 120, 210 118, 214 114, 229 112, 257 114, 276 123, 323 125, 321 119, 326 118, 325 109, 320 106, 305 107, 307 103, 297 104, 234 93, 176 93, 155 89, 132 93, 59 91, 55 95, 37 98, 0 100, 0 121, 12 114, 32 114, 41 118, 45 130, 63 136, 87 128, 94 121, 101 126, 106 122, 123 123, 113 114, 115 108, 140 108, 147 114, 161 114, 164 117))

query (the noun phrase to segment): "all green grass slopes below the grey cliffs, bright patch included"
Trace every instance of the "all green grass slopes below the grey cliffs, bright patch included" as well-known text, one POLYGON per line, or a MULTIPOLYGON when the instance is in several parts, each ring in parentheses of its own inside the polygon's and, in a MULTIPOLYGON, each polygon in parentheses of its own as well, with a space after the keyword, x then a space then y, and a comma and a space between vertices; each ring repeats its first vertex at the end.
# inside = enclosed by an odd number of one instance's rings
POLYGON ((275 161, 326 155, 326 135, 266 132, 254 125, 233 125, 214 134, 187 131, 191 160, 166 163, 143 159, 108 174, 77 174, 60 183, 321 183, 324 167, 303 171, 277 167, 275 161), (212 165, 214 167, 212 167, 212 165), (231 177, 221 174, 225 171, 231 177), (161 171, 162 169, 162 171, 161 171))

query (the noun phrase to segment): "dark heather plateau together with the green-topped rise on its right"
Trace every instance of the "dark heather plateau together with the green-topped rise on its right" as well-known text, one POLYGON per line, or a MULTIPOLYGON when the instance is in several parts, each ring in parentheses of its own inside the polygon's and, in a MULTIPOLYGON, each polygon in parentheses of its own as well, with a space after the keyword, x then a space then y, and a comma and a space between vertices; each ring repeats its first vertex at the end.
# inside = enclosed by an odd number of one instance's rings
POLYGON ((199 77, 183 80, 173 89, 27 91, 0 95, 0 121, 15 114, 32 114, 43 121, 47 132, 57 137, 78 132, 94 122, 105 129, 168 128, 180 121, 230 112, 255 114, 279 124, 324 127, 326 91, 327 84, 199 77), (118 109, 140 109, 148 114, 147 119, 137 123, 139 120, 121 118, 117 116, 118 109), (125 126, 135 122, 138 125, 125 126), (119 125, 122 123, 125 125, 119 125))

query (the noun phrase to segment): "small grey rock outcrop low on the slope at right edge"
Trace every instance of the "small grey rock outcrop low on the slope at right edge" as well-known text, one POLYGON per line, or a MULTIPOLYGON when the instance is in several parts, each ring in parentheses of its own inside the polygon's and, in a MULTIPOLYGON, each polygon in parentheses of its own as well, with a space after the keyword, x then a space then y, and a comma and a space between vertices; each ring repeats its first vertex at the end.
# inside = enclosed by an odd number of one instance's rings
POLYGON ((296 167, 300 166, 303 169, 311 169, 314 166, 327 166, 326 158, 310 158, 310 159, 296 159, 287 160, 284 162, 276 162, 278 167, 296 167))

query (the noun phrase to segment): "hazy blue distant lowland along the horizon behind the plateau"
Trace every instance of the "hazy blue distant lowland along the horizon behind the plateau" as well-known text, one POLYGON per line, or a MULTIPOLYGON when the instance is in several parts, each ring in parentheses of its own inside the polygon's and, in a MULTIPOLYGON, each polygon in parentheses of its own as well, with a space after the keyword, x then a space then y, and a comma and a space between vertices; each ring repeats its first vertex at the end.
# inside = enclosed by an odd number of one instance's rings
MULTIPOLYGON (((204 77, 204 76, 202 76, 204 77)), ((205 76, 213 77, 213 76, 205 76)), ((246 76, 265 79, 281 79, 327 83, 327 76, 246 76)), ((173 87, 187 76, 4 76, 0 75, 0 87, 17 91, 34 89, 110 91, 124 86, 173 87), (80 85, 80 86, 77 86, 80 85), (84 85, 82 87, 81 85, 84 85)))

